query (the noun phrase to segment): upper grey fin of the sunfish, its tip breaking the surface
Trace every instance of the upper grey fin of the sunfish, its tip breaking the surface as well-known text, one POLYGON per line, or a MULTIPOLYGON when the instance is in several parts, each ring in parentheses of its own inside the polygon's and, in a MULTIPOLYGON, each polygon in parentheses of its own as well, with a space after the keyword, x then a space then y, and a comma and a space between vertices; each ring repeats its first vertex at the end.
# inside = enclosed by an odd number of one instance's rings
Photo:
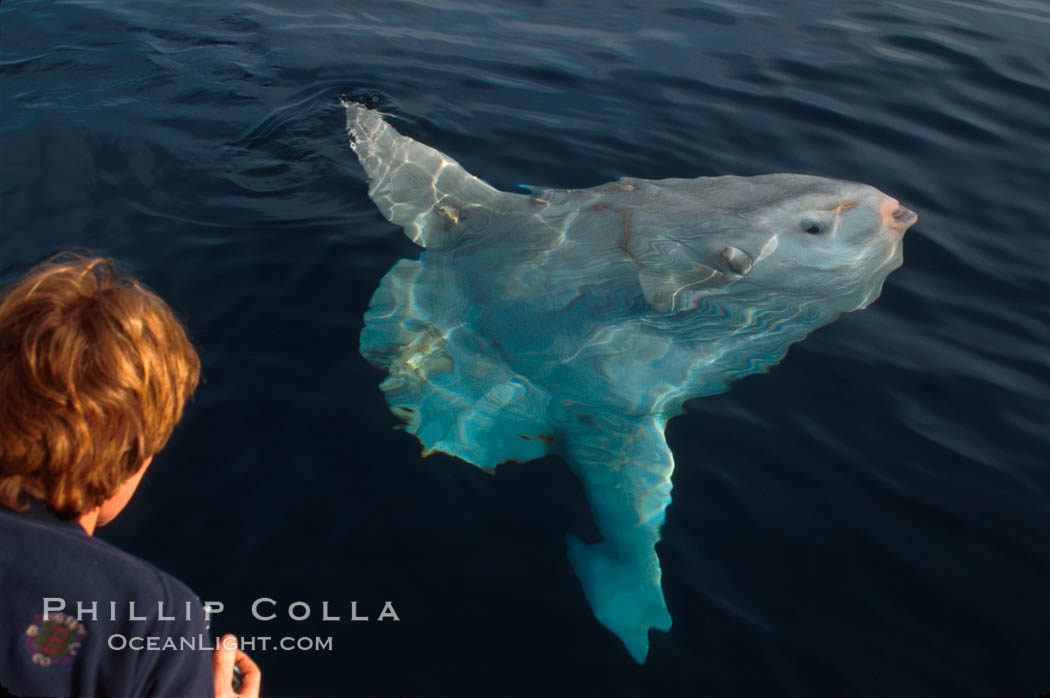
MULTIPOLYGON (((350 147, 369 177, 369 196, 416 245, 447 249, 469 231, 471 210, 513 194, 488 186, 448 155, 401 135, 380 112, 343 100, 350 147)), ((487 216, 478 216, 487 218, 487 216)))

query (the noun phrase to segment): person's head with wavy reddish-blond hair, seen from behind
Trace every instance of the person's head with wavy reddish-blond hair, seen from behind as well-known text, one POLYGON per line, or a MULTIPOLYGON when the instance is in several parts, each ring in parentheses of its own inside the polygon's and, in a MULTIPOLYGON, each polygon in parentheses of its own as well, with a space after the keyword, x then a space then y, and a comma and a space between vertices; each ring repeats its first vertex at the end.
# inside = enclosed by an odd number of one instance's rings
POLYGON ((171 309, 111 260, 30 269, 0 295, 0 506, 75 519, 126 502, 200 371, 171 309))

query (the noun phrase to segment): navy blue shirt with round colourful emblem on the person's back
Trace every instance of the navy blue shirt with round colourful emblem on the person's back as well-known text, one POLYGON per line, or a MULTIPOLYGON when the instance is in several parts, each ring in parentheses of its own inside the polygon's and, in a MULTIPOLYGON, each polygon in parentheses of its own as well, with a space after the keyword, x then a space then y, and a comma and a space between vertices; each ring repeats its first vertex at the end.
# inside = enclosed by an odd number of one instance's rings
POLYGON ((174 577, 39 502, 27 511, 0 507, 4 689, 210 697, 210 646, 201 601, 174 577))

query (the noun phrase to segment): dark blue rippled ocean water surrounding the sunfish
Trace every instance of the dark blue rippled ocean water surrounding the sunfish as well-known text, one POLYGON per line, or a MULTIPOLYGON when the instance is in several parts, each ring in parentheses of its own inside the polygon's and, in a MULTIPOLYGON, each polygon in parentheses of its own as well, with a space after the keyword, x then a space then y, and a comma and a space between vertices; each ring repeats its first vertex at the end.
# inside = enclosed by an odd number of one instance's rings
POLYGON ((102 534, 219 632, 333 637, 256 652, 271 695, 1034 697, 1048 117, 1040 0, 7 0, 0 276, 87 248, 185 318, 205 382, 102 534), (501 188, 807 172, 919 212, 875 305, 671 422, 644 667, 565 557, 596 532, 561 461, 492 478, 395 430, 357 344, 418 250, 345 147, 354 90, 501 188))

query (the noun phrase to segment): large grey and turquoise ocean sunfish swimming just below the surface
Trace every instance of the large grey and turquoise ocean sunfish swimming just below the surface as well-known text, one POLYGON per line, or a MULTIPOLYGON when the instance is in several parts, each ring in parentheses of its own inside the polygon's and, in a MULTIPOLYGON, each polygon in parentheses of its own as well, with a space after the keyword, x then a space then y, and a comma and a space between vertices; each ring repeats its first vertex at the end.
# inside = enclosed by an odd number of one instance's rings
POLYGON ((383 277, 361 354, 423 444, 491 471, 562 457, 603 540, 568 535, 597 619, 644 662, 670 630, 655 545, 667 421, 866 306, 918 216, 802 174, 499 191, 344 100, 369 196, 424 248, 383 277))

